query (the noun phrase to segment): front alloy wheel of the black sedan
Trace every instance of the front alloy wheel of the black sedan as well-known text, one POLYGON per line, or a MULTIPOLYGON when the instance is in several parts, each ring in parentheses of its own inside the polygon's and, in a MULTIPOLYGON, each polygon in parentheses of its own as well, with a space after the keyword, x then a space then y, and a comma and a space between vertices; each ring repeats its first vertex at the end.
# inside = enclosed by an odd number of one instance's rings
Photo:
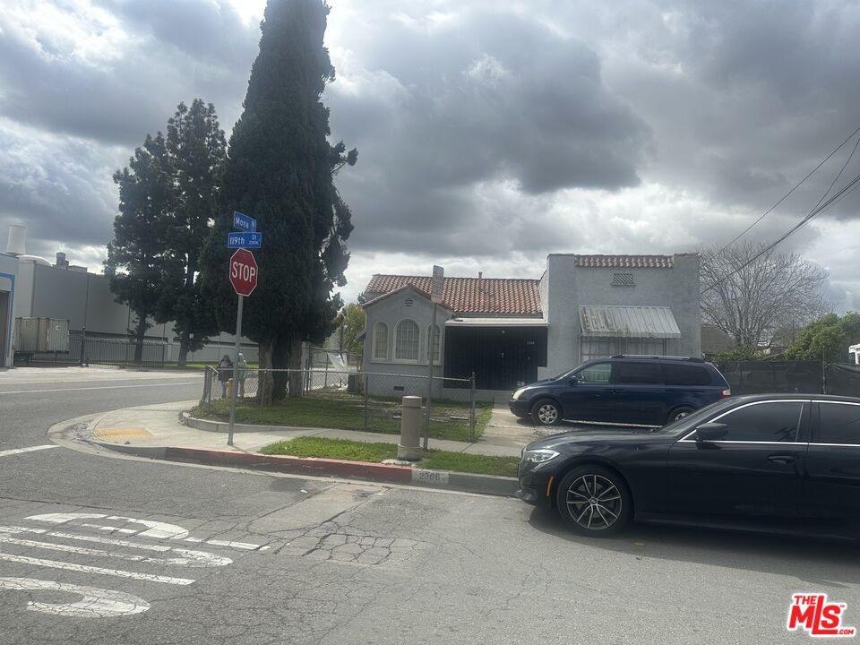
POLYGON ((624 480, 599 466, 572 470, 556 494, 562 519, 583 535, 608 535, 622 529, 631 517, 630 500, 624 480))

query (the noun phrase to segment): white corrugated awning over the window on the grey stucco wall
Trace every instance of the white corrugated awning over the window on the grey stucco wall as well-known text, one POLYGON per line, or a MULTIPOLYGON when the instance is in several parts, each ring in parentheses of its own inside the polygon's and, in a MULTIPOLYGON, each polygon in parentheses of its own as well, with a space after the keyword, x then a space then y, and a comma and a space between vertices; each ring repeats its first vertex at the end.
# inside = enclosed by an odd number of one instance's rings
POLYGON ((581 306, 583 336, 613 338, 681 338, 669 307, 581 306))

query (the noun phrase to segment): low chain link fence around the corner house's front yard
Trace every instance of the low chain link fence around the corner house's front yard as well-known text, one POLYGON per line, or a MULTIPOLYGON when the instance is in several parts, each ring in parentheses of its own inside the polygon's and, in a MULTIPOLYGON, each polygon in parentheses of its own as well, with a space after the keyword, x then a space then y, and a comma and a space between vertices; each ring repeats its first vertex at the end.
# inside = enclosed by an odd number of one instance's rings
MULTIPOLYGON (((400 433, 400 408, 404 396, 420 396, 429 402, 431 436, 469 441, 477 438, 477 415, 485 406, 477 403, 474 377, 448 378, 427 375, 383 374, 333 370, 240 369, 236 383, 236 419, 246 423, 297 427, 326 427, 383 434, 400 433), (258 396, 267 376, 274 383, 300 389, 300 398, 289 397, 263 408, 258 396), (431 385, 432 383, 432 385, 431 385), (428 397, 429 394, 429 397, 428 397)), ((228 413, 233 388, 233 368, 207 367, 201 405, 213 416, 228 413)), ((482 426, 483 427, 483 426, 482 426)))

